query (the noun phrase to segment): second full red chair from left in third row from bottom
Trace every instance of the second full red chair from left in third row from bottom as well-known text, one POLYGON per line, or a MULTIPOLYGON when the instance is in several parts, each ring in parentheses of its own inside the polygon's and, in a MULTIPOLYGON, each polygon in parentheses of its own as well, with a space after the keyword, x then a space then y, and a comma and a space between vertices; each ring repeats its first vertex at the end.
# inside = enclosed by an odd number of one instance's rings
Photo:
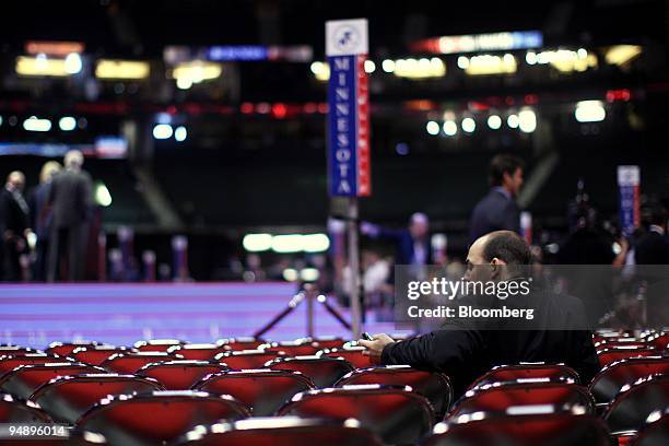
POLYGON ((193 387, 232 395, 248 406, 254 416, 272 415, 293 395, 314 388, 314 383, 298 372, 270 369, 220 372, 193 387))

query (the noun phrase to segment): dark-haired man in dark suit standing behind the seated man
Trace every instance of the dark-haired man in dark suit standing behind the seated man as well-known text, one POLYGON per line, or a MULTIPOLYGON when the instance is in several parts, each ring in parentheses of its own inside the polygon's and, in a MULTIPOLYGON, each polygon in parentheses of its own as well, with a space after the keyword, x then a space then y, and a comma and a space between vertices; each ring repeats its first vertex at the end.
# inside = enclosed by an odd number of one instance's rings
POLYGON ((490 163, 492 189, 474 207, 469 226, 469 243, 493 231, 520 233, 520 210, 515 198, 523 186, 521 160, 500 154, 490 163))

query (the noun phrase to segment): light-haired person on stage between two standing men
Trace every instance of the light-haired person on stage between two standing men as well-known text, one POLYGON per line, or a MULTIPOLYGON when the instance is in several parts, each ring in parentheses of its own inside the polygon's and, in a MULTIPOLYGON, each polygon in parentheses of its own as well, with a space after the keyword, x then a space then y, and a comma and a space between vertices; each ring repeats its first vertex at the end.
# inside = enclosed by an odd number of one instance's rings
POLYGON ((47 270, 47 253, 51 232, 52 213, 47 207, 47 199, 51 190, 51 180, 61 169, 57 161, 48 161, 42 166, 39 173, 39 185, 33 189, 28 204, 31 208, 31 226, 37 235, 37 259, 35 261, 33 279, 44 282, 47 270))

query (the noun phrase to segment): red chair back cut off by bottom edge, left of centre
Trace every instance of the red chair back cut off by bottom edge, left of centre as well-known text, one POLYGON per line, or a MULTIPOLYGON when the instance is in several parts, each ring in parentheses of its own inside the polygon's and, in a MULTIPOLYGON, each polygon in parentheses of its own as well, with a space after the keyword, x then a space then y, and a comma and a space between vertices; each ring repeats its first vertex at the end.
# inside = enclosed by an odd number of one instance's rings
POLYGON ((294 416, 254 418, 196 429, 180 442, 187 446, 382 446, 372 432, 355 420, 337 422, 294 416))

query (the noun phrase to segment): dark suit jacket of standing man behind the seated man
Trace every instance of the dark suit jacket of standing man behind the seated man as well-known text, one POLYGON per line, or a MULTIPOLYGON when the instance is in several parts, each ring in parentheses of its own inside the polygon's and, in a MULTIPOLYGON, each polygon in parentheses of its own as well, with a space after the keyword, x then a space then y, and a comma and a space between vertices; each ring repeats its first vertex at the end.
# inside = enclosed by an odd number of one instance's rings
POLYGON ((520 209, 516 201, 500 190, 491 189, 477 203, 469 224, 469 243, 493 231, 509 230, 520 233, 520 209))

